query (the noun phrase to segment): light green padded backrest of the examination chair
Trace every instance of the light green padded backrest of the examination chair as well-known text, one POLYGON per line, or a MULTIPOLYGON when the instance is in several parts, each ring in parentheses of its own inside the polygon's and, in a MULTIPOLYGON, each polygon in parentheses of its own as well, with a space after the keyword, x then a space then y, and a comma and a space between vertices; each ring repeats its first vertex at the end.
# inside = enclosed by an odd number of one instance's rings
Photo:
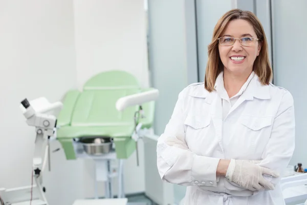
POLYGON ((107 71, 89 79, 76 102, 71 126, 133 125, 137 106, 119 112, 116 101, 142 92, 138 80, 125 71, 107 71))

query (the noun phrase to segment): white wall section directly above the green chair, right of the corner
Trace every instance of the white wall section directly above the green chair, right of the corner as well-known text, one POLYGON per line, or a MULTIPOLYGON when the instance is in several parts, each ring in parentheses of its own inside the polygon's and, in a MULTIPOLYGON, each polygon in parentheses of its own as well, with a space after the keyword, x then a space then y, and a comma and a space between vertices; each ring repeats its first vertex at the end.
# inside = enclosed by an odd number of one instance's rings
POLYGON ((144 0, 75 0, 74 7, 78 85, 101 71, 125 70, 147 86, 144 0))

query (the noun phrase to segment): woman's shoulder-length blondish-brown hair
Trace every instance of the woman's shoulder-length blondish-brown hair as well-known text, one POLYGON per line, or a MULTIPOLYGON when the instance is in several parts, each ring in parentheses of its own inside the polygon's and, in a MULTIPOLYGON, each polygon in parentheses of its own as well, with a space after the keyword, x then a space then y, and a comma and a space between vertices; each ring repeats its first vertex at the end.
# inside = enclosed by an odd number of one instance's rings
POLYGON ((224 65, 218 52, 218 40, 225 31, 228 23, 234 19, 244 19, 249 22, 259 38, 261 50, 256 57, 253 65, 254 72, 258 75, 262 85, 269 85, 272 79, 272 68, 270 65, 268 54, 268 43, 265 35, 264 28, 262 27, 259 19, 250 11, 242 11, 240 9, 233 9, 225 13, 217 22, 214 27, 212 41, 208 46, 208 63, 205 74, 205 89, 209 92, 214 90, 215 80, 223 69, 224 65))

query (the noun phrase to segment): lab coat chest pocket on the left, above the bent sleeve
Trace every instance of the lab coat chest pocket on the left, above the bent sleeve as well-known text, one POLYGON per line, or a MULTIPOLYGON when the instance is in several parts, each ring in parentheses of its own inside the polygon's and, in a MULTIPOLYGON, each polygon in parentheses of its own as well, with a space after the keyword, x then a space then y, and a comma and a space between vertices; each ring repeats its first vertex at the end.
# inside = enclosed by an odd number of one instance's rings
POLYGON ((211 117, 187 115, 185 121, 186 142, 191 151, 198 152, 200 145, 206 145, 212 136, 211 117))

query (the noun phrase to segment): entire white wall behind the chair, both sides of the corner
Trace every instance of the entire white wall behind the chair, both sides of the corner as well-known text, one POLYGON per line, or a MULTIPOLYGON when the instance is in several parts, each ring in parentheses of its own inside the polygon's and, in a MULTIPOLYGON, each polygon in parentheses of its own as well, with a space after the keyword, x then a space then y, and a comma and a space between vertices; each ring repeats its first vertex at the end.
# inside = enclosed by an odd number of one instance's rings
MULTIPOLYGON (((113 69, 148 86, 145 13, 142 0, 0 0, 0 30, 0 187, 13 188, 31 183, 35 137, 20 101, 60 100, 92 75, 113 69)), ((51 148, 61 147, 55 141, 51 148)), ((143 153, 141 142, 139 168, 135 154, 125 162, 126 193, 144 191, 143 153)), ((50 204, 93 197, 91 166, 67 161, 63 150, 52 153, 51 172, 43 178, 50 204)), ((99 191, 103 196, 103 185, 99 191)))

